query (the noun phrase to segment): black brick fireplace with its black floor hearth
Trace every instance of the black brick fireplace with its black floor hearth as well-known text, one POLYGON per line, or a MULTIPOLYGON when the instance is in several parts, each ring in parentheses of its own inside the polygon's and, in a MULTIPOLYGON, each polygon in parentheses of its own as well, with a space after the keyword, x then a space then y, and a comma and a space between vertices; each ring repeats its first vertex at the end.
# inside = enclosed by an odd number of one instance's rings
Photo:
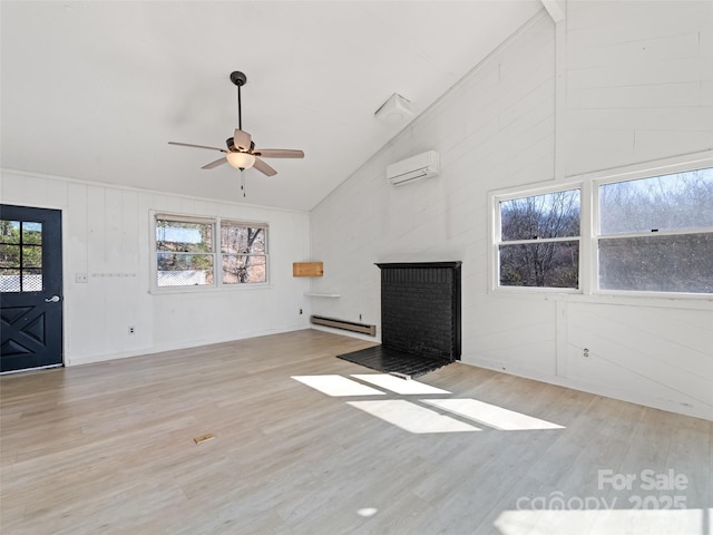
POLYGON ((378 263, 381 346, 338 356, 411 378, 460 360, 461 262, 378 263))

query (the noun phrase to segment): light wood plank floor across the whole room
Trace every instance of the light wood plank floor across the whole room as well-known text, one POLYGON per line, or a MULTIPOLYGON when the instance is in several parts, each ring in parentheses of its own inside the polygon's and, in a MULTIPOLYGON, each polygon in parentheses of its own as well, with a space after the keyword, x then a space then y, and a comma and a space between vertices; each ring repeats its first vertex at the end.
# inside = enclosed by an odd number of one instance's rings
POLYGON ((367 346, 305 330, 0 378, 0 531, 712 533, 713 422, 460 363, 419 378, 448 393, 397 393, 334 357, 367 346), (377 392, 293 379, 325 374, 377 392), (642 488, 670 470, 678 488, 642 488))

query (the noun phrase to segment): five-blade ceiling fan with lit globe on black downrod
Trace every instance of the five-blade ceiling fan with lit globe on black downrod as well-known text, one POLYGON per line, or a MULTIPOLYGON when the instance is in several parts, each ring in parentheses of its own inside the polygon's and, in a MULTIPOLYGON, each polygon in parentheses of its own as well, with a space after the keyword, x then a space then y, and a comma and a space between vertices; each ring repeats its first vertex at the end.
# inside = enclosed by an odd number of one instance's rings
POLYGON ((255 167, 257 171, 267 176, 276 175, 277 172, 261 158, 304 158, 304 153, 290 148, 255 148, 255 143, 251 135, 243 130, 243 117, 241 110, 241 87, 247 81, 247 77, 240 71, 231 72, 231 81, 237 86, 237 128, 233 133, 233 137, 225 140, 227 149, 218 147, 208 147, 205 145, 193 145, 191 143, 168 142, 169 145, 180 145, 182 147, 207 148, 208 150, 219 150, 225 153, 219 159, 211 162, 201 167, 202 169, 212 169, 225 163, 231 164, 236 169, 248 169, 255 167))

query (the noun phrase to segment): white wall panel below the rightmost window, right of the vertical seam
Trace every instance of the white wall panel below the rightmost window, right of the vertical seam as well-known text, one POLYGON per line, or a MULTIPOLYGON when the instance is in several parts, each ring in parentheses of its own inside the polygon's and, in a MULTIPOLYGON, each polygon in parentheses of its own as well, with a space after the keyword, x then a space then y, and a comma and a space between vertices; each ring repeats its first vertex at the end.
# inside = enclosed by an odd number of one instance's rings
POLYGON ((568 379, 713 419, 713 311, 567 303, 566 329, 568 379))

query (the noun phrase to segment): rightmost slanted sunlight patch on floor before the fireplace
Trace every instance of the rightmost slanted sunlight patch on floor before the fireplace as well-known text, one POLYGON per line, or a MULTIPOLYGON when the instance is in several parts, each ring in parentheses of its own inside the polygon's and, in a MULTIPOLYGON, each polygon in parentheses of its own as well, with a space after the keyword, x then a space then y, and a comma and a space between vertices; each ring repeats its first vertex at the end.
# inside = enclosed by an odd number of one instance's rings
POLYGON ((539 418, 470 398, 421 399, 420 401, 504 431, 564 429, 563 426, 551 421, 540 420, 539 418))

